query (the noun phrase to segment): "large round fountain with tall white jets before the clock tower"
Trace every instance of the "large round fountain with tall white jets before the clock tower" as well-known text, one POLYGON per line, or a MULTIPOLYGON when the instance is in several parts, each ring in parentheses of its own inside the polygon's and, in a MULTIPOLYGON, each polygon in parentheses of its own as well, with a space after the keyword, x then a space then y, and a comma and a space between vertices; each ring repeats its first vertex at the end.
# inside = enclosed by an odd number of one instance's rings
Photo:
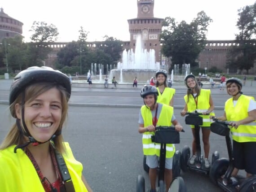
POLYGON ((136 39, 135 53, 133 50, 124 50, 122 63, 118 62, 117 69, 110 70, 110 79, 115 76, 119 82, 131 82, 134 77, 139 81, 147 81, 160 69, 159 62, 155 62, 154 49, 148 52, 142 48, 141 36, 136 39))

